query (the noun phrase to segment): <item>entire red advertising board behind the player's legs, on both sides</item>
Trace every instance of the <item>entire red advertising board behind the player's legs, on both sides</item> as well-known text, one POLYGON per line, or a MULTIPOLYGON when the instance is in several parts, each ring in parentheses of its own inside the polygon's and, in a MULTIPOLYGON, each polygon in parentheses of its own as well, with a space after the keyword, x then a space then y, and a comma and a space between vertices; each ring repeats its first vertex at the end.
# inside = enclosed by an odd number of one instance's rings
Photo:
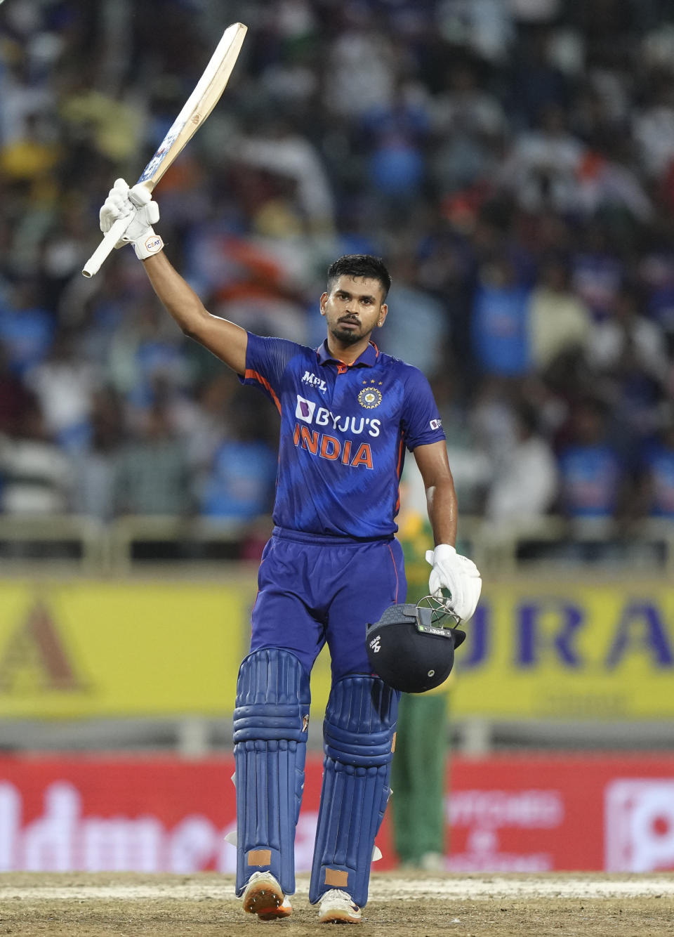
MULTIPOLYGON (((0 759, 0 871, 231 872, 232 774, 231 758, 0 759)), ((312 756, 299 871, 311 865, 320 782, 312 756)), ((377 842, 376 868, 392 868, 388 822, 377 842)), ((447 844, 453 871, 674 870, 674 757, 455 758, 447 844)))

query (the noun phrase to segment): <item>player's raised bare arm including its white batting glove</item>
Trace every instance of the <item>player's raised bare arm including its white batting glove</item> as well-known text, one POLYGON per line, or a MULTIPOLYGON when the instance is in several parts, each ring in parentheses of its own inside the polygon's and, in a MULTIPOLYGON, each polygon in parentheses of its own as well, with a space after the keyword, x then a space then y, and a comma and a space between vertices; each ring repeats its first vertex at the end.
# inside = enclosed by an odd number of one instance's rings
POLYGON ((159 206, 144 186, 129 189, 123 179, 117 180, 100 210, 101 231, 110 231, 115 221, 132 212, 135 217, 115 247, 134 245, 154 292, 183 333, 212 351, 237 374, 244 374, 248 333, 234 322, 213 316, 170 264, 162 250, 164 242, 152 227, 159 220, 159 206))

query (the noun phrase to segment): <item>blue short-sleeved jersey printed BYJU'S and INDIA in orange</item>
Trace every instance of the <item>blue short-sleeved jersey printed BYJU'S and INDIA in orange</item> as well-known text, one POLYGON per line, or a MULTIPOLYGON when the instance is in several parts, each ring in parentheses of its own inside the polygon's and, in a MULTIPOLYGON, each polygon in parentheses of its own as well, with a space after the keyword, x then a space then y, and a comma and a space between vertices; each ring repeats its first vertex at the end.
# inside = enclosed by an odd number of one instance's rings
POLYGON ((273 521, 323 536, 398 529, 405 449, 445 439, 428 380, 370 344, 354 364, 283 338, 248 335, 245 384, 281 414, 273 521))

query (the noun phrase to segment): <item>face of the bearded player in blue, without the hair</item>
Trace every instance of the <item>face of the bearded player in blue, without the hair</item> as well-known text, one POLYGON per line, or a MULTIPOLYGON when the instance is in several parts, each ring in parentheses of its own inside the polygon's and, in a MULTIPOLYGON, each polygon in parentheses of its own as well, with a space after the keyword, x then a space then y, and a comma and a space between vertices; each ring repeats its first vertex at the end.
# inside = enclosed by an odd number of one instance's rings
POLYGON ((328 332, 343 345, 356 345, 376 326, 383 325, 388 307, 379 280, 363 276, 340 276, 320 300, 321 315, 328 332))

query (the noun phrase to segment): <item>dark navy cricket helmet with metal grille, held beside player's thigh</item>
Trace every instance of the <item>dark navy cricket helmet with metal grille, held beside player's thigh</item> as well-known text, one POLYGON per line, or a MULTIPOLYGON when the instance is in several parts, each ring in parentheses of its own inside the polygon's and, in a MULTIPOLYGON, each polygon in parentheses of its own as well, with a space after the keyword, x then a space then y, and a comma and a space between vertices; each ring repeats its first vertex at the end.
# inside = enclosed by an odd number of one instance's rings
POLYGON ((425 693, 444 683, 454 664, 454 649, 465 632, 447 603, 426 596, 417 605, 390 605, 368 625, 367 655, 374 673, 394 690, 425 693))

